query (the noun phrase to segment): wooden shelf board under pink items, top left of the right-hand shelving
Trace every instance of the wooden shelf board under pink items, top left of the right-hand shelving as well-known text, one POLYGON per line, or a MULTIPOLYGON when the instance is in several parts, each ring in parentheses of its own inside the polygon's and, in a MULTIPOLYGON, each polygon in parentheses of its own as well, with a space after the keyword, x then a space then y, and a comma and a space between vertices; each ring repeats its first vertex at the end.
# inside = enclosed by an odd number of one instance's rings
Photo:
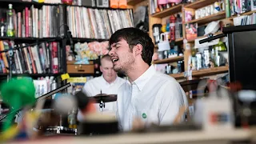
POLYGON ((170 16, 171 14, 176 14, 178 12, 182 12, 182 4, 178 4, 177 6, 172 6, 169 9, 162 10, 158 13, 151 14, 151 17, 154 18, 165 18, 170 16))

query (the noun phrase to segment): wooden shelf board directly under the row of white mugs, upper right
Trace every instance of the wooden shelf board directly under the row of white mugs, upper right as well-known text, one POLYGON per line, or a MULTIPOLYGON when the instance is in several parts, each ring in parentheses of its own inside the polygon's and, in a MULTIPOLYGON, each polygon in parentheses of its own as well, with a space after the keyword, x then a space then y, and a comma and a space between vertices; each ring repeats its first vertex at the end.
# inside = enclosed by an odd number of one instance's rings
POLYGON ((216 21, 216 20, 223 19, 223 18, 226 18, 226 11, 221 11, 221 12, 218 12, 217 14, 212 14, 212 15, 209 15, 204 18, 193 19, 190 22, 186 22, 186 24, 197 22, 198 25, 200 25, 200 24, 216 21))

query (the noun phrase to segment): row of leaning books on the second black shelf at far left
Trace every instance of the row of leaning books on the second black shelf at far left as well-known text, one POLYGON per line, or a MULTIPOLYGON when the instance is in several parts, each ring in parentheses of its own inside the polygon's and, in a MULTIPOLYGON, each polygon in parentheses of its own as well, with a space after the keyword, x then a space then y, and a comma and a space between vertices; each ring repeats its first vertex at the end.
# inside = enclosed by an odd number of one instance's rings
MULTIPOLYGON (((59 42, 41 43, 27 46, 25 43, 14 44, 13 41, 0 41, 0 50, 25 46, 14 50, 13 74, 58 74, 62 72, 62 49, 59 42)), ((0 54, 0 73, 9 73, 9 54, 0 54)))

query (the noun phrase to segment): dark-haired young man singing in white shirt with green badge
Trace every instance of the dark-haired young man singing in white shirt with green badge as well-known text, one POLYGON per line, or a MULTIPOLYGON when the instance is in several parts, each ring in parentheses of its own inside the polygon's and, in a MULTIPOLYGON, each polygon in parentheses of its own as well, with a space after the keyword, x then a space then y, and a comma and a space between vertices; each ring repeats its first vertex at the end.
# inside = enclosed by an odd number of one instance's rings
POLYGON ((179 109, 187 106, 179 83, 151 66, 153 53, 152 39, 142 30, 124 28, 110 38, 114 70, 129 78, 118 90, 118 120, 124 131, 132 129, 134 118, 145 125, 171 125, 179 109))

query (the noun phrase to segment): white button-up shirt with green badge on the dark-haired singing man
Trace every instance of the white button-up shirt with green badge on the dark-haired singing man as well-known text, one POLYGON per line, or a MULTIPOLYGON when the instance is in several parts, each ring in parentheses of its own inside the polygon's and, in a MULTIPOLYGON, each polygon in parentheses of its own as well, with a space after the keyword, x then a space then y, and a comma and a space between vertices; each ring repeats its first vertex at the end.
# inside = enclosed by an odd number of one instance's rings
POLYGON ((126 81, 118 90, 118 120, 124 131, 131 130, 134 118, 146 124, 171 125, 179 108, 187 105, 179 83, 156 71, 154 66, 134 82, 126 81))

